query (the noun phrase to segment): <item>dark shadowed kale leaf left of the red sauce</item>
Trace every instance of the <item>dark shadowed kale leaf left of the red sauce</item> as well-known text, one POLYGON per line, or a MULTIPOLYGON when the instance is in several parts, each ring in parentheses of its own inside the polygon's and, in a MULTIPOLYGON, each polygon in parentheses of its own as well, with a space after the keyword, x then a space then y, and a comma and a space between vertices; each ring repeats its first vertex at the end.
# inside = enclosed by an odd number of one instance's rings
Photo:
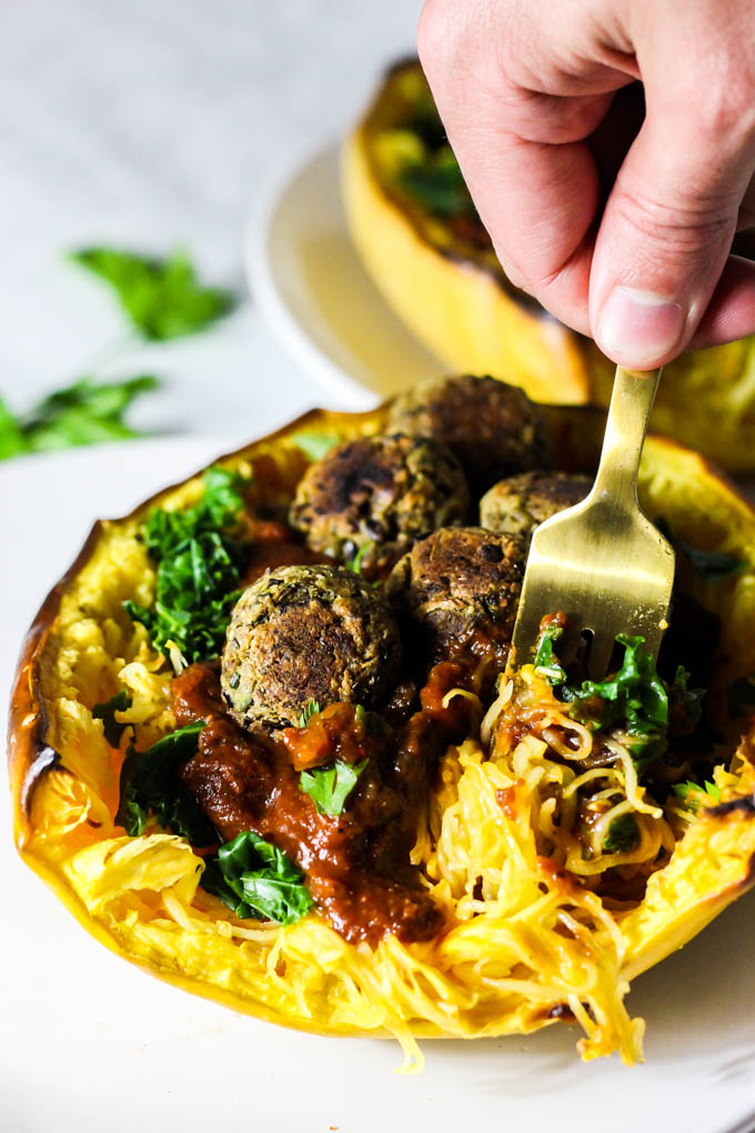
POLYGON ((130 747, 121 768, 120 802, 115 821, 131 837, 144 834, 149 815, 160 826, 188 838, 192 845, 209 845, 216 835, 179 772, 197 752, 203 719, 187 724, 157 740, 146 751, 130 747))

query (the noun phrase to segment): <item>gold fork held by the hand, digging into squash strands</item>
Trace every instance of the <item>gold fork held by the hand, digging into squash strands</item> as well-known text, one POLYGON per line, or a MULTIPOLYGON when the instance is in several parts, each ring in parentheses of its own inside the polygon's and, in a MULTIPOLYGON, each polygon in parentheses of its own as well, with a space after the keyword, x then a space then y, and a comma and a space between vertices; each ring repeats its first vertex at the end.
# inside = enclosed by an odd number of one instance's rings
POLYGON ((643 516, 637 470, 660 369, 617 367, 598 476, 582 503, 534 531, 514 627, 514 658, 532 659, 540 620, 564 611, 568 659, 592 633, 587 672, 606 676, 617 633, 642 634, 658 655, 674 582, 674 551, 643 516))

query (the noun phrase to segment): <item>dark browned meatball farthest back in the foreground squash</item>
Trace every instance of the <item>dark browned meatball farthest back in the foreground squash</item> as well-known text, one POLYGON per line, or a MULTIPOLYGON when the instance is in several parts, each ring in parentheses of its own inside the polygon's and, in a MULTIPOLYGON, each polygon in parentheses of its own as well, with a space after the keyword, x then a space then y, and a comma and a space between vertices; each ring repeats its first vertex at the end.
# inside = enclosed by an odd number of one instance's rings
POLYGON ((495 377, 422 382, 396 398, 389 427, 443 441, 482 493, 504 476, 544 468, 550 444, 544 418, 518 386, 495 377))

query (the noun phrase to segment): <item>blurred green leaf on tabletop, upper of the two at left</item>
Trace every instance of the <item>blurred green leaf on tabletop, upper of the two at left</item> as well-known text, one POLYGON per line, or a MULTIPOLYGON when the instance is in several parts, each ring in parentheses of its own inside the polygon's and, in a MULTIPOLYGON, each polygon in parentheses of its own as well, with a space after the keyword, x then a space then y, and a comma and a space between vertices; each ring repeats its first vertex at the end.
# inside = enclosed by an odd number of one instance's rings
POLYGON ((230 292, 201 287, 182 252, 157 259, 114 248, 83 248, 71 253, 71 259, 110 283, 134 326, 153 341, 203 331, 235 304, 230 292))

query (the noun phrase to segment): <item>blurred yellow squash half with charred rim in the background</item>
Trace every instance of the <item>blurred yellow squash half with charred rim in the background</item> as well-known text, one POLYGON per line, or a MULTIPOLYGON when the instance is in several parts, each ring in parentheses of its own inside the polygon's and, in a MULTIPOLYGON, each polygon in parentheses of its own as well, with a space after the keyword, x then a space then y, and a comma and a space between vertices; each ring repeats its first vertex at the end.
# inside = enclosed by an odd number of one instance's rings
MULTIPOLYGON (((608 404, 614 367, 592 340, 516 290, 469 218, 451 222, 402 187, 418 161, 418 121, 426 136, 443 137, 419 62, 409 59, 388 70, 343 148, 346 215, 377 287, 451 372, 492 374, 537 401, 608 404)), ((752 256, 755 240, 741 237, 736 250, 752 256)), ((668 366, 653 427, 729 471, 755 471, 755 337, 668 366)))

